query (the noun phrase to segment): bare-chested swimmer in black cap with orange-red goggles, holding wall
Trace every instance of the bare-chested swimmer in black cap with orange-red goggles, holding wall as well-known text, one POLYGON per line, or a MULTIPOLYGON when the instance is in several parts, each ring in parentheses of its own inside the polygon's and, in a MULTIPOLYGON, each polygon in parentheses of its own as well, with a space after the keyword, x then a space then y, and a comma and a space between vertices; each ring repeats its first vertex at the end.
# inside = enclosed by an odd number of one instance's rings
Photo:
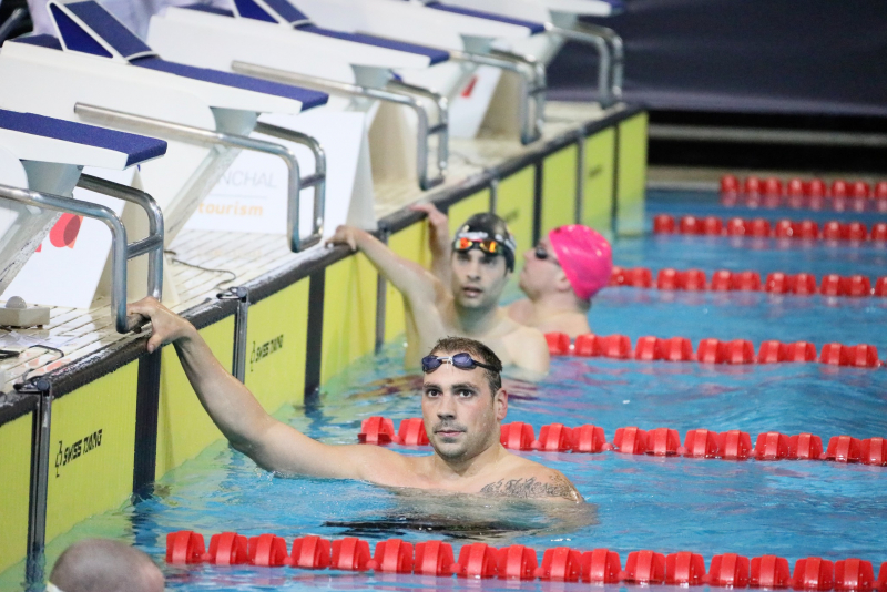
POLYGON ((404 295, 407 316, 405 365, 419 366, 424 353, 445 335, 478 339, 499 351, 506 366, 531 375, 548 372, 542 333, 509 317, 499 298, 514 271, 514 238, 495 214, 476 214, 456 233, 446 282, 421 265, 397 256, 367 232, 339 226, 327 241, 364 253, 404 295))

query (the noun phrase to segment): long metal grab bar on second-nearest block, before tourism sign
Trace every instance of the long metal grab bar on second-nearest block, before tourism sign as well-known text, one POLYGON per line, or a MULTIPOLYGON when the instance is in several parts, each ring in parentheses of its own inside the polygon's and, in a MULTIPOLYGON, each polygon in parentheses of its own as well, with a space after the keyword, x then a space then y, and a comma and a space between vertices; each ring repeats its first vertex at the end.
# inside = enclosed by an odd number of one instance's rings
POLYGON ((298 233, 299 222, 299 192, 302 191, 302 177, 299 175, 298 161, 296 155, 281 144, 255 140, 244 135, 235 135, 214 130, 193 127, 182 123, 173 123, 153 118, 145 118, 123 111, 115 111, 103 106, 77 103, 74 113, 94 123, 115 129, 128 129, 144 135, 156 137, 180 140, 191 144, 207 146, 227 146, 253 152, 272 154, 282 159, 289 170, 287 178, 287 221, 286 227, 289 234, 289 249, 294 253, 304 251, 316 245, 323 238, 323 213, 319 220, 315 218, 312 234, 306 238, 300 238, 298 233))

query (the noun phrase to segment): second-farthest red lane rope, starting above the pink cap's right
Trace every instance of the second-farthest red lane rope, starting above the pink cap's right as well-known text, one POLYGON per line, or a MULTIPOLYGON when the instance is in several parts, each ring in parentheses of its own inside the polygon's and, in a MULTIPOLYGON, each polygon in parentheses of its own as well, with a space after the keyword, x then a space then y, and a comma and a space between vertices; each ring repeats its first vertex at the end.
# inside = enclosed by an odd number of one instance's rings
POLYGON ((887 222, 876 222, 868 226, 863 222, 825 222, 822 227, 812 220, 783 218, 772 224, 767 218, 718 216, 682 216, 679 221, 669 214, 653 218, 654 234, 683 234, 690 236, 735 236, 753 238, 784 238, 793 241, 823 241, 829 244, 848 243, 859 245, 865 242, 887 242, 887 222))

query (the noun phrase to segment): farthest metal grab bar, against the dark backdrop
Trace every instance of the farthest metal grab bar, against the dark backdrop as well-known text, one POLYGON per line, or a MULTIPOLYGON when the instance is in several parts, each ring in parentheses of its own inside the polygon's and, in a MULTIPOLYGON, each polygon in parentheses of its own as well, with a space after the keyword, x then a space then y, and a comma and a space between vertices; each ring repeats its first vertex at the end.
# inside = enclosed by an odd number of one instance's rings
POLYGON ((575 22, 572 28, 546 24, 546 30, 563 37, 568 41, 577 41, 594 45, 598 50, 598 93, 602 106, 610 106, 622 99, 622 76, 625 52, 622 38, 612 29, 585 22, 575 22))

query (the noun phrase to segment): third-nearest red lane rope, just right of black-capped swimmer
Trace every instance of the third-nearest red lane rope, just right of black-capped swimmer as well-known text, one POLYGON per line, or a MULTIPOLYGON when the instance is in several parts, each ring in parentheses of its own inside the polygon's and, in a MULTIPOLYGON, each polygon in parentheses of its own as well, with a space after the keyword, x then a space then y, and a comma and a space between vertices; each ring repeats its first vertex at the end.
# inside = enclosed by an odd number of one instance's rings
POLYGON ((879 368, 878 348, 874 345, 825 344, 819 348, 809 341, 783 343, 775 339, 763 341, 755 355, 747 339, 700 339, 696 350, 686 337, 641 337, 632 349, 626 335, 580 335, 574 341, 563 333, 546 334, 552 356, 605 357, 634 359, 639 361, 697 361, 700 364, 778 364, 819 363, 830 366, 879 368))

